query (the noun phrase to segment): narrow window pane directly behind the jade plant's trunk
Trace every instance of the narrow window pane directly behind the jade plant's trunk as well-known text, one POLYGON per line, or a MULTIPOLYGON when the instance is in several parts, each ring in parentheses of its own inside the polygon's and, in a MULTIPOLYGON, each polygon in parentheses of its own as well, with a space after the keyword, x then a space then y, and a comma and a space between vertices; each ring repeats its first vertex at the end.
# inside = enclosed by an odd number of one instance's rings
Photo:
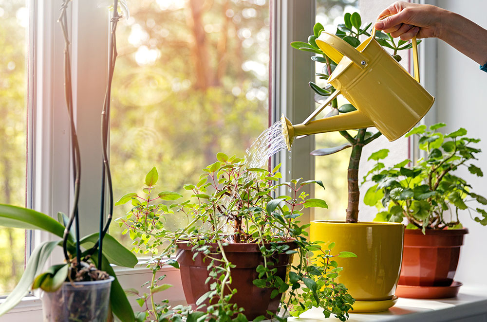
MULTIPOLYGON (((325 31, 335 33, 337 24, 343 23, 343 15, 346 12, 358 12, 358 0, 317 0, 316 1, 316 22, 321 23, 325 31)), ((316 63, 316 72, 321 73, 324 64, 316 63)), ((319 86, 325 86, 326 81, 316 77, 319 86)), ((322 97, 316 97, 316 100, 322 97)), ((338 96, 338 106, 348 103, 341 96, 338 96)), ((318 107, 317 103, 317 107, 318 107)), ((330 107, 324 109, 320 116, 330 112, 330 107)), ((323 133, 315 136, 315 148, 328 148, 338 146, 347 141, 338 133, 323 133)), ((315 210, 315 219, 340 219, 345 218, 347 209, 348 188, 347 169, 350 158, 350 149, 338 153, 316 157, 315 177, 322 180, 326 191, 316 190, 316 196, 327 201, 329 208, 326 210, 315 210)))

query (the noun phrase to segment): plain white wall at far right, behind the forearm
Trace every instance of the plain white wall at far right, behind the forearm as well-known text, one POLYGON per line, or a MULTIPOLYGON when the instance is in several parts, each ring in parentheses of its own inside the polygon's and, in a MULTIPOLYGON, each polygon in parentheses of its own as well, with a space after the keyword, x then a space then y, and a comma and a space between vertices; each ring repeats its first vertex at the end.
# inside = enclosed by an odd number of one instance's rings
MULTIPOLYGON (((485 8, 485 0, 441 0, 438 5, 487 28, 487 16, 481 9, 485 8)), ((466 179, 474 191, 487 196, 487 73, 480 71, 477 63, 443 41, 438 42, 437 55, 438 122, 447 124, 445 131, 464 127, 468 135, 483 140, 479 147, 484 152, 476 164, 484 170, 486 177, 473 176, 467 169, 458 171, 458 175, 466 179)), ((468 213, 463 213, 461 218, 470 233, 461 250, 455 279, 464 284, 487 284, 487 227, 471 220, 468 213)))

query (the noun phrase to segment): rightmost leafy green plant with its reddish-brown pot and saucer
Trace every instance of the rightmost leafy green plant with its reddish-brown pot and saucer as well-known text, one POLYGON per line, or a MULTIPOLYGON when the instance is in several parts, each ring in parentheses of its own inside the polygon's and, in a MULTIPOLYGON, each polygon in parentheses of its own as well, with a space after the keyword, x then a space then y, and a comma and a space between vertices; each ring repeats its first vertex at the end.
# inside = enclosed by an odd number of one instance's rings
POLYGON ((369 160, 377 161, 365 176, 375 183, 367 191, 364 202, 385 208, 375 218, 378 221, 402 222, 408 225, 404 237, 404 258, 396 294, 405 297, 438 298, 455 296, 461 283, 453 277, 458 265, 460 247, 468 230, 460 223, 459 211, 478 213, 475 221, 487 225, 482 205, 487 199, 473 192, 466 180, 454 171, 467 167, 470 173, 482 177, 482 170, 472 161, 480 149, 480 139, 469 138, 460 128, 449 134, 438 131, 444 123, 420 125, 407 136, 416 135, 424 158, 415 165, 404 160, 385 168, 380 160, 388 150, 373 153, 369 160))

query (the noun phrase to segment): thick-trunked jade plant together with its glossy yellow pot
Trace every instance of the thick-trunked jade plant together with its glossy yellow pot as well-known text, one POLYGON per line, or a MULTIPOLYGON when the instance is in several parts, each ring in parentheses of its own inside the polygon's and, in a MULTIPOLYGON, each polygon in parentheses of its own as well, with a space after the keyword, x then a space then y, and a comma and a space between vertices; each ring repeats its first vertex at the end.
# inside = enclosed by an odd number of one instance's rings
MULTIPOLYGON (((353 47, 360 45, 359 36, 371 36, 367 29, 371 24, 362 28, 362 21, 358 13, 344 16, 344 24, 337 27, 336 36, 342 38, 353 47)), ((316 73, 319 79, 327 80, 335 71, 337 63, 329 58, 316 44, 316 39, 323 31, 320 23, 315 24, 313 35, 307 42, 296 41, 291 43, 296 49, 312 52, 318 55, 312 56, 315 62, 323 63, 322 72, 316 73)), ((374 41, 374 40, 373 40, 374 41)), ((375 33, 375 41, 381 46, 393 51, 393 58, 400 61, 398 51, 412 48, 412 44, 406 41, 395 41, 392 36, 381 32, 375 33)), ((418 41, 419 43, 420 41, 418 41)), ((309 82, 311 89, 315 91, 316 101, 323 100, 335 92, 331 85, 321 87, 314 82, 309 82)), ((331 111, 325 117, 335 116, 340 113, 355 111, 352 104, 344 104, 338 107, 337 99, 331 102, 331 111)), ((356 312, 383 311, 391 307, 396 298, 395 287, 401 267, 401 251, 403 230, 402 225, 395 223, 359 222, 359 185, 358 166, 364 145, 377 139, 380 132, 369 132, 367 128, 361 128, 356 134, 351 131, 339 131, 345 139, 345 143, 331 148, 318 149, 311 154, 325 156, 351 148, 350 162, 348 166, 348 207, 345 222, 313 221, 310 227, 311 240, 335 241, 337 250, 350 250, 357 254, 357 259, 351 262, 349 259, 340 259, 339 265, 344 272, 338 279, 349 288, 350 294, 356 299, 354 310, 356 312)))

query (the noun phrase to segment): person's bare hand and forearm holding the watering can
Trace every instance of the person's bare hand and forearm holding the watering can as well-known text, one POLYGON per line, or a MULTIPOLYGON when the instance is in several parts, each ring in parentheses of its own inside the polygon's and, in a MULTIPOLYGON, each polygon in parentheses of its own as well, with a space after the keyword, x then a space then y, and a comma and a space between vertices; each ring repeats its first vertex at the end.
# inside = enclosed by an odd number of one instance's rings
POLYGON ((487 62, 487 30, 473 21, 432 5, 403 1, 394 2, 379 17, 391 14, 375 28, 403 40, 437 37, 480 65, 487 62))

